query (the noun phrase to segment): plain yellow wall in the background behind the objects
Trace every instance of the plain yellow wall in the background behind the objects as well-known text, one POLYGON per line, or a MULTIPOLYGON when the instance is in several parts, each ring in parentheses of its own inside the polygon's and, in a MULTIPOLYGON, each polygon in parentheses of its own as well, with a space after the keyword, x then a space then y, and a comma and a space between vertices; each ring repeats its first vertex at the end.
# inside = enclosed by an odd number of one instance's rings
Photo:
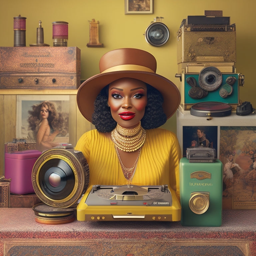
MULTIPOLYGON (((240 88, 242 101, 250 101, 256 107, 254 73, 256 65, 255 8, 253 0, 154 0, 153 14, 124 14, 123 0, 10 0, 0 4, 0 46, 13 46, 13 17, 27 17, 26 43, 36 43, 36 28, 42 21, 44 42, 52 46, 52 22, 69 22, 68 46, 81 49, 81 79, 98 73, 100 57, 107 51, 135 47, 151 52, 157 59, 157 73, 178 84, 175 78, 176 32, 188 15, 204 15, 204 10, 223 10, 236 23, 237 72, 245 75, 245 85, 240 88), (144 32, 154 17, 162 20, 170 30, 169 41, 161 47, 146 43, 144 32), (100 42, 104 48, 88 48, 89 20, 100 22, 100 42)), ((176 118, 172 117, 165 128, 176 131, 176 118)))

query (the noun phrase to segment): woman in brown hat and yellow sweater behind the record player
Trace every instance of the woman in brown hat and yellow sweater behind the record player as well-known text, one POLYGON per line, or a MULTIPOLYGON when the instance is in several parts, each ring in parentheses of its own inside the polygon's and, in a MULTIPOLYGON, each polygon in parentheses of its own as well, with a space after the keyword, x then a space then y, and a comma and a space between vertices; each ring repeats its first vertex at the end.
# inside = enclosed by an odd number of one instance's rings
POLYGON ((177 110, 179 90, 143 50, 110 51, 99 66, 77 93, 80 112, 96 127, 75 147, 88 161, 89 185, 167 184, 179 196, 178 140, 156 129, 177 110))

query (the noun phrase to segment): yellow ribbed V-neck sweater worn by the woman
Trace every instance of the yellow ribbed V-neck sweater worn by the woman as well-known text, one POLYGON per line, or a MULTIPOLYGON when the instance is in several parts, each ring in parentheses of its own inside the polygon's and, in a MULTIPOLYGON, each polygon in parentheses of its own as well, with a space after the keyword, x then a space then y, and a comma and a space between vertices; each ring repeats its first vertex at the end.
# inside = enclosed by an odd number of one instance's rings
MULTIPOLYGON (((111 138, 97 130, 84 133, 75 150, 83 152, 89 164, 90 185, 128 184, 111 138)), ((130 184, 164 185, 179 196, 180 146, 176 135, 161 128, 146 130, 137 168, 130 184)))

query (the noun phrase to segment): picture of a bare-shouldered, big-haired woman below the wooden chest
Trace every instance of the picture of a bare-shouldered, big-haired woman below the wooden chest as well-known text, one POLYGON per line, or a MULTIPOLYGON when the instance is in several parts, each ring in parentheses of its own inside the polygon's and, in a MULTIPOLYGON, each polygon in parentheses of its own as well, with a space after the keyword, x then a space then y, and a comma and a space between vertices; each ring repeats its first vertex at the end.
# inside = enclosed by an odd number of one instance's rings
POLYGON ((69 95, 17 96, 17 138, 35 140, 40 151, 69 142, 69 95))

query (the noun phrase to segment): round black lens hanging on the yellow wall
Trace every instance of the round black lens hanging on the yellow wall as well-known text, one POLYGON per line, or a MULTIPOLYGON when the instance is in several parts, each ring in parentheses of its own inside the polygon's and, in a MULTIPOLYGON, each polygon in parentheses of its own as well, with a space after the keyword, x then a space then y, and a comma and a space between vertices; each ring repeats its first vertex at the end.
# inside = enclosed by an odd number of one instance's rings
POLYGON ((165 44, 170 37, 167 26, 161 22, 151 23, 145 32, 146 41, 153 46, 161 46, 165 44))

